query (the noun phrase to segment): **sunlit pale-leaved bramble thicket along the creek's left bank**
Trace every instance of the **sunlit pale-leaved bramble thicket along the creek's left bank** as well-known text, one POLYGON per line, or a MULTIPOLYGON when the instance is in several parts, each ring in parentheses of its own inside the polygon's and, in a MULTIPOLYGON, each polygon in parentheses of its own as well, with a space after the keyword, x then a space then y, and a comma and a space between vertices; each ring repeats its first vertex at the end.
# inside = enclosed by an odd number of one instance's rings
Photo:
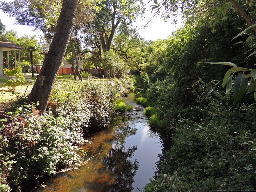
POLYGON ((1 112, 0 191, 20 191, 28 180, 37 181, 65 166, 79 166, 82 157, 77 152, 85 142, 83 134, 107 125, 116 95, 133 86, 121 81, 125 80, 59 81, 44 115, 27 104, 8 114, 1 112))

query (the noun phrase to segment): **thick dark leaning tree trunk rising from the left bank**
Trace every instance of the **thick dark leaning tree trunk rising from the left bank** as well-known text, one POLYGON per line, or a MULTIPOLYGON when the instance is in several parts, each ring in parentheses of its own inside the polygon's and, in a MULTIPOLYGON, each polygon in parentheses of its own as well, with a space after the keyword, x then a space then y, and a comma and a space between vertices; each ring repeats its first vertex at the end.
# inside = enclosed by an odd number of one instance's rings
POLYGON ((54 38, 37 80, 28 95, 28 101, 34 103, 39 101, 37 109, 41 114, 46 111, 54 81, 68 46, 77 6, 78 0, 63 0, 54 38))

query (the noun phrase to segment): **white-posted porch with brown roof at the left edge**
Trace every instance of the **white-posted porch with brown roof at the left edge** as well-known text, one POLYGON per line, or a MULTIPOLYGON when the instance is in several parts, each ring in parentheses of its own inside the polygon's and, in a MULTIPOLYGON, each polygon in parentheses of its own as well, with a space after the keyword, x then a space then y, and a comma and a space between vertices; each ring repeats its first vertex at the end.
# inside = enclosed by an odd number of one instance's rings
POLYGON ((3 51, 7 51, 7 62, 8 62, 8 69, 9 69, 9 51, 14 51, 14 64, 16 67, 16 50, 19 51, 19 66, 20 66, 20 49, 24 49, 15 43, 9 43, 0 41, 0 76, 4 76, 4 59, 3 59, 3 51))

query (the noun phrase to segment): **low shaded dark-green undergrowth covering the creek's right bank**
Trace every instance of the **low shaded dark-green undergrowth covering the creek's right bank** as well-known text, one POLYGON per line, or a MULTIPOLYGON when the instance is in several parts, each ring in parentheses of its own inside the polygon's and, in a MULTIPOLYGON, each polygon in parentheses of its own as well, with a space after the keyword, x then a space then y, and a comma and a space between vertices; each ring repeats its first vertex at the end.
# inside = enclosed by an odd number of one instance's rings
POLYGON ((205 114, 169 120, 164 130, 173 133, 174 145, 157 164, 159 177, 144 191, 256 189, 256 105, 233 109, 230 94, 220 88, 216 81, 195 84, 191 94, 197 99, 190 109, 205 114))

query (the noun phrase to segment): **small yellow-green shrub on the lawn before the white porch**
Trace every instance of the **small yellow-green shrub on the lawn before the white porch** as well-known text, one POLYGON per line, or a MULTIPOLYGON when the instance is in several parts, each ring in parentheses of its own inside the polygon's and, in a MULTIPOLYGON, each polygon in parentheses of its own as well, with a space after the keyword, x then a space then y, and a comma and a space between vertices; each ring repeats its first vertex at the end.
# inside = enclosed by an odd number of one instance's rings
POLYGON ((21 68, 18 66, 12 70, 4 68, 4 73, 10 77, 15 77, 16 79, 9 79, 6 81, 6 85, 12 87, 15 90, 15 87, 25 83, 25 78, 21 68))

